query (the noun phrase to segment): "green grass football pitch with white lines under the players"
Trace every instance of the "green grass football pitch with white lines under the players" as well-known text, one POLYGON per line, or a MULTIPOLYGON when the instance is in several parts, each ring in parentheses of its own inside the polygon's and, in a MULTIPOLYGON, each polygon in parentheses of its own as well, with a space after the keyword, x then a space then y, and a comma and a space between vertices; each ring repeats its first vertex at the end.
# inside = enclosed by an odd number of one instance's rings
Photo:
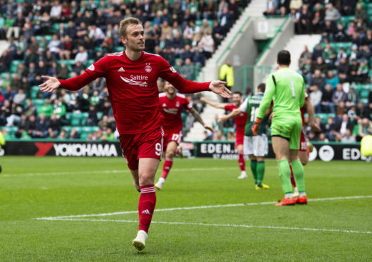
POLYGON ((372 163, 308 163, 308 205, 277 207, 275 161, 266 161, 270 189, 256 191, 251 172, 236 178, 237 161, 177 158, 141 253, 124 158, 0 163, 0 261, 372 260, 372 163))

